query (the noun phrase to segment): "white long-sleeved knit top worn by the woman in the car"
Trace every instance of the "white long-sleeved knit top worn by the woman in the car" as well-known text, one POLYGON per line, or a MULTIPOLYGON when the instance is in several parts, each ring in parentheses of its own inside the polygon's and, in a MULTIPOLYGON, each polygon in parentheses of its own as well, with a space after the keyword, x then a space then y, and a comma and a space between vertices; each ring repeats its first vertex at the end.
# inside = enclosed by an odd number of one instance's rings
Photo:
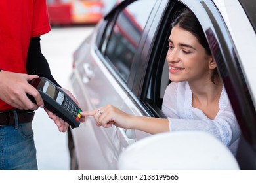
POLYGON ((217 116, 211 120, 202 110, 192 107, 192 91, 188 82, 171 82, 163 97, 162 110, 169 119, 170 131, 206 131, 236 154, 240 128, 224 86, 219 99, 219 108, 217 116))

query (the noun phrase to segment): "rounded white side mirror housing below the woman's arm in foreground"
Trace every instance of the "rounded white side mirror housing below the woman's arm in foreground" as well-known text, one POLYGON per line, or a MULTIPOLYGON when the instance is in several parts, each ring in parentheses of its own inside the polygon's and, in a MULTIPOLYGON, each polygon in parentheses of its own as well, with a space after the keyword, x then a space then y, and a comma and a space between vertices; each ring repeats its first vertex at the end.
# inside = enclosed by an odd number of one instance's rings
POLYGON ((159 133, 128 146, 118 169, 224 170, 240 169, 218 139, 202 131, 159 133))

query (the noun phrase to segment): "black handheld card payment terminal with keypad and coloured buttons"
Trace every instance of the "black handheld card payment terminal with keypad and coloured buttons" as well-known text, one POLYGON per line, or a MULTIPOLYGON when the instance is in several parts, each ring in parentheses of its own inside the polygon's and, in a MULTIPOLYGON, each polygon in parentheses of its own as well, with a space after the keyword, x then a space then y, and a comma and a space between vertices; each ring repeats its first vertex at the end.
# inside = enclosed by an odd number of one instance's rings
MULTIPOLYGON (((63 90, 44 77, 34 78, 30 84, 41 94, 45 108, 68 122, 72 128, 79 127, 81 109, 63 90)), ((31 95, 28 97, 35 103, 31 95)))

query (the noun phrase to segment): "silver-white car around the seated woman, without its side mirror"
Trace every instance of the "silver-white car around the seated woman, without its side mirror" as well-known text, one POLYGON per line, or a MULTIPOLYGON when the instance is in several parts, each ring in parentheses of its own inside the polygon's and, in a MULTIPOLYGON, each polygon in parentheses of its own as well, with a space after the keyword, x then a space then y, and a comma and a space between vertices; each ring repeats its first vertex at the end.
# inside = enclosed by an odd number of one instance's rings
MULTIPOLYGON (((165 118, 171 19, 188 7, 205 31, 242 131, 236 162, 240 169, 256 169, 255 6, 255 0, 119 1, 75 51, 70 91, 82 110, 111 104, 129 114, 165 118)), ((97 127, 88 117, 68 131, 71 169, 118 169, 120 154, 149 136, 97 127)))

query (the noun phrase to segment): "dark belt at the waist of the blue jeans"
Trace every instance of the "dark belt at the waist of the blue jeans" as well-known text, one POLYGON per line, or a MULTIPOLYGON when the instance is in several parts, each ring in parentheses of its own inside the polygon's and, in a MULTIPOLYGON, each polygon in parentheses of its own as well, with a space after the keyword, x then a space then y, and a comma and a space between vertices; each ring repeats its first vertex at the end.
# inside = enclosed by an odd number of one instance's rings
MULTIPOLYGON (((32 122, 35 110, 15 110, 17 113, 18 123, 32 122)), ((14 125, 15 117, 14 110, 0 112, 0 125, 14 125)))

